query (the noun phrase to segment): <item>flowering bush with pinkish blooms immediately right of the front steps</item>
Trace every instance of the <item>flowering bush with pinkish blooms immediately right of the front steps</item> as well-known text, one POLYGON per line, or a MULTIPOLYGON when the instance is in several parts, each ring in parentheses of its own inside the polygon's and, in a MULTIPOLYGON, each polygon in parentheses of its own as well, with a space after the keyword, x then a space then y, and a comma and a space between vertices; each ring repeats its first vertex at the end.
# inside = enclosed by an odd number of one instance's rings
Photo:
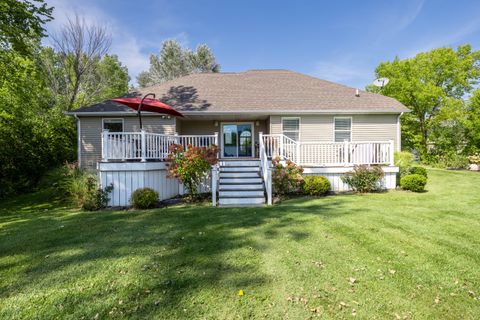
POLYGON ((300 189, 303 184, 302 167, 290 160, 286 160, 285 164, 282 164, 279 157, 272 159, 272 165, 272 182, 275 193, 285 195, 300 189))

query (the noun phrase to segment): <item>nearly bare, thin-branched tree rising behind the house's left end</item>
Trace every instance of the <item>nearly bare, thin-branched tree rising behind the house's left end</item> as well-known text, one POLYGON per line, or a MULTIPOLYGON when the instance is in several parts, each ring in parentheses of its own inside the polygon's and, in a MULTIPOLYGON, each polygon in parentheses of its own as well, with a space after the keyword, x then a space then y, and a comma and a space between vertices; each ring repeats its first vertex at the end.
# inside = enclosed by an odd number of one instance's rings
MULTIPOLYGON (((53 46, 58 56, 58 64, 66 72, 62 95, 67 97, 66 110, 72 110, 77 101, 82 84, 94 73, 98 60, 109 50, 111 38, 101 25, 87 25, 75 14, 68 18, 58 34, 52 35, 53 46)), ((51 79, 51 82, 56 81, 51 79)))

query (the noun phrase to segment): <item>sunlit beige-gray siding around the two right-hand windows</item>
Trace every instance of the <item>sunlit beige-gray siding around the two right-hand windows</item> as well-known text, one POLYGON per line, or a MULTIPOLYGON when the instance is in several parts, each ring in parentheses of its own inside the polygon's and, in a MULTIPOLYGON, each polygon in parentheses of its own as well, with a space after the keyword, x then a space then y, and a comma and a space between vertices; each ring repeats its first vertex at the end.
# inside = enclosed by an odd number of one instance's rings
MULTIPOLYGON (((289 116, 290 117, 290 116, 289 116)), ((300 140, 306 142, 334 141, 335 115, 302 115, 300 140)), ((394 140, 398 147, 396 114, 338 115, 352 117, 352 141, 394 140)), ((282 133, 282 116, 270 116, 270 132, 282 133)))

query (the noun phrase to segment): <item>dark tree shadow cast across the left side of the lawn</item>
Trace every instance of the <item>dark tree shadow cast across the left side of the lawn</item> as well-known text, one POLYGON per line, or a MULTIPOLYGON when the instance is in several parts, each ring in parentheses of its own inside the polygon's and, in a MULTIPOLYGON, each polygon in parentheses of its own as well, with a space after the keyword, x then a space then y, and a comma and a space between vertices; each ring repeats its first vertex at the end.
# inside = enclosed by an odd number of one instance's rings
MULTIPOLYGON (((227 286, 236 292, 271 281, 260 269, 258 252, 266 244, 255 237, 274 239, 288 235, 301 241, 309 233, 295 229, 308 223, 304 219, 307 215, 328 219, 349 213, 339 213, 342 203, 328 198, 294 199, 266 208, 177 206, 104 212, 68 211, 56 202, 42 201, 41 197, 27 199, 7 203, 0 215, 0 259, 22 257, 0 264, 0 272, 22 270, 15 281, 0 285, 0 299, 50 277, 58 283, 50 283, 45 290, 55 290, 61 282, 87 276, 85 272, 112 272, 102 270, 105 266, 87 271, 92 263, 100 261, 115 272, 122 272, 121 267, 115 268, 115 260, 138 258, 136 269, 128 272, 138 273, 139 282, 155 296, 161 296, 160 302, 152 301, 152 294, 146 295, 143 286, 132 284, 125 301, 135 301, 135 308, 140 308, 143 316, 160 312, 158 305, 162 306, 161 312, 175 313, 192 294, 205 288, 227 286), (232 255, 237 258, 225 259, 232 255), (242 256, 245 259, 238 258, 242 256), (60 278, 57 273, 61 273, 60 278)), ((113 278, 116 276, 120 275, 113 278)), ((78 295, 76 304, 91 303, 90 299, 94 299, 84 293, 78 295)), ((98 312, 107 315, 113 307, 104 302, 98 312)), ((125 313, 129 307, 115 306, 125 313)))

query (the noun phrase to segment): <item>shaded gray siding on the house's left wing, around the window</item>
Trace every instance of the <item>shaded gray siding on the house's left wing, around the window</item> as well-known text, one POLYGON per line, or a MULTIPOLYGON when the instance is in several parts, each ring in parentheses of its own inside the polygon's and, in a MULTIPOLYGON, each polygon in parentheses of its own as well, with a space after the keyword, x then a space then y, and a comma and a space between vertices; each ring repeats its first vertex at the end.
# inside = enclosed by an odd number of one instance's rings
MULTIPOLYGON (((80 117, 80 167, 96 169, 102 158, 102 119, 119 119, 122 117, 80 117)), ((148 132, 174 134, 175 119, 161 117, 142 117, 143 128, 148 132)), ((123 131, 140 130, 137 117, 123 117, 123 131)))

